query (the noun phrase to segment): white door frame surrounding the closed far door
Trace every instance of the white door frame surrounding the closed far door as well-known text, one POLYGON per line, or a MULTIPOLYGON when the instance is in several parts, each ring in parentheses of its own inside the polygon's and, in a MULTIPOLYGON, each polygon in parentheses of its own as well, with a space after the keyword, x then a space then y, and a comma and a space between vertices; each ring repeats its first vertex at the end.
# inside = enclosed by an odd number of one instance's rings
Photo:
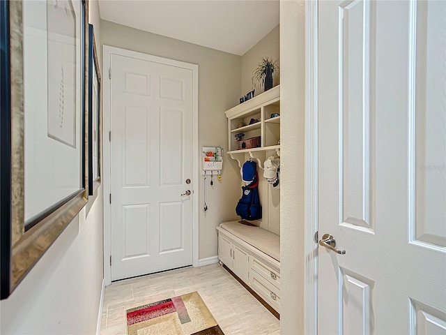
POLYGON ((112 47, 109 45, 102 45, 102 115, 103 115, 103 187, 104 187, 104 281, 105 285, 112 283, 112 267, 110 266, 110 258, 112 255, 112 228, 110 221, 110 211, 112 207, 109 203, 111 187, 111 145, 109 141, 111 108, 110 108, 110 77, 109 68, 111 66, 112 54, 117 54, 124 57, 131 57, 135 59, 143 59, 146 61, 153 61, 159 64, 176 66, 179 68, 187 68, 192 70, 192 133, 193 133, 193 155, 192 155, 192 178, 194 181, 194 188, 192 188, 192 266, 199 266, 199 138, 198 138, 198 79, 199 66, 197 64, 185 63, 183 61, 176 61, 174 59, 167 59, 164 57, 157 57, 151 54, 144 54, 142 52, 135 52, 131 50, 121 49, 119 47, 112 47))

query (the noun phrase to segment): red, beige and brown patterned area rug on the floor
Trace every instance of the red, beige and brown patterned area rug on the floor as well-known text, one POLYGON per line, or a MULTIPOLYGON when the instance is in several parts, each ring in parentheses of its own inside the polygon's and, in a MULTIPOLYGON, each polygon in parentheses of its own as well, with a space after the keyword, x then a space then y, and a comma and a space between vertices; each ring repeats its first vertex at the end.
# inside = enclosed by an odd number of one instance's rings
POLYGON ((128 335, 223 335, 198 292, 127 311, 128 335))

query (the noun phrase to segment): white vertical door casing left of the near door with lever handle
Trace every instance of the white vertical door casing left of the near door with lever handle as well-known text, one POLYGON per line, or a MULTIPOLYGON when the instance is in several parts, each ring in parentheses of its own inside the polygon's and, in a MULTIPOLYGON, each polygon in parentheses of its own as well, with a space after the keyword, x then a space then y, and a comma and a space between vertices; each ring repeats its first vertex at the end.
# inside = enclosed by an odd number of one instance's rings
POLYGON ((305 106, 305 334, 318 332, 318 1, 307 1, 305 106))

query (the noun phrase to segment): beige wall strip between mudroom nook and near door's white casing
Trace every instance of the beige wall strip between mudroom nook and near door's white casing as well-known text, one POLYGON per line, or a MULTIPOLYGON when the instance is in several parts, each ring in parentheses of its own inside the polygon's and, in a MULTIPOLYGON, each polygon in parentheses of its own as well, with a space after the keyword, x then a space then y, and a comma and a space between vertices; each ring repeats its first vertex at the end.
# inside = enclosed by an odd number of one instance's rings
POLYGON ((280 1, 280 333, 304 334, 305 1, 280 1))

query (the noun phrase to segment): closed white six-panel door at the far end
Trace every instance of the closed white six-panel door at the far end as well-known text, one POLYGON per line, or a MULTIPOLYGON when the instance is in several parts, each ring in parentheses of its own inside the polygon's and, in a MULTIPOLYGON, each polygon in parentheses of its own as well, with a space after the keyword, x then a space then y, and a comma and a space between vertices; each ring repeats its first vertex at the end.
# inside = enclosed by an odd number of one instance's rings
POLYGON ((192 70, 112 54, 111 72, 112 280, 192 265, 192 70))

